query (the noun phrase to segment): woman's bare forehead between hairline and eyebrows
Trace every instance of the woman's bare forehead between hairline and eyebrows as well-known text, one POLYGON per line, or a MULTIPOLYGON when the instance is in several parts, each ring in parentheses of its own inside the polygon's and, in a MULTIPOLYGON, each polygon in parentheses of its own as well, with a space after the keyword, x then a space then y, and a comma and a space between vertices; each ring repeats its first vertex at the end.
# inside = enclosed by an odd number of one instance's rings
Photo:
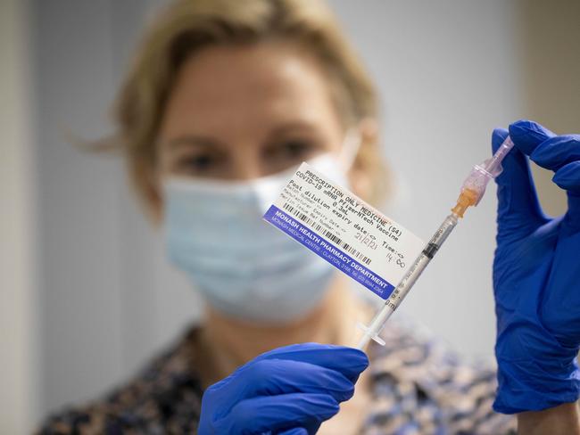
POLYGON ((264 128, 304 121, 337 127, 336 108, 318 62, 281 43, 212 46, 178 72, 162 135, 264 128))

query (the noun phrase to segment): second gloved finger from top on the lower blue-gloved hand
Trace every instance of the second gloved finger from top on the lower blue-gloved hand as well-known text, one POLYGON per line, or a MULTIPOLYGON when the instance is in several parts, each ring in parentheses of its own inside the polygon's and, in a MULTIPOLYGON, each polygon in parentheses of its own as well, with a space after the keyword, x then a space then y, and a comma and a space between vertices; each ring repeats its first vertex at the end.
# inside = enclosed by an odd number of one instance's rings
POLYGON ((238 370, 226 386, 228 397, 237 400, 302 392, 324 393, 343 402, 354 394, 354 384, 344 374, 320 365, 286 359, 254 360, 238 370))

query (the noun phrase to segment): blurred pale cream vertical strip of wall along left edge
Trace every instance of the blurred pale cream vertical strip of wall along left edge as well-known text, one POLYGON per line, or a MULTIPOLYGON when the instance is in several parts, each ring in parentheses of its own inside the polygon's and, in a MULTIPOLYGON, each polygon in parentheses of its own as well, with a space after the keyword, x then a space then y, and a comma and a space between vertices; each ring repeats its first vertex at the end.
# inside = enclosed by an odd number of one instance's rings
POLYGON ((35 161, 27 4, 0 2, 0 433, 37 415, 35 161))

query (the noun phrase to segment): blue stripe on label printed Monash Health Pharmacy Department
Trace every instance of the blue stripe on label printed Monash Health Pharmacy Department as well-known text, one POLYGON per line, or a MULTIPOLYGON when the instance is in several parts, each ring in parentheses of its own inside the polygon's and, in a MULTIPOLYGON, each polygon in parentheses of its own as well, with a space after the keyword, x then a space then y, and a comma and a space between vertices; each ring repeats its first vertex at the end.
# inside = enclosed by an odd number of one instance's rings
POLYGON ((384 300, 394 291, 392 283, 374 273, 369 267, 362 266, 358 261, 345 254, 343 250, 336 247, 334 243, 328 242, 310 228, 302 226, 294 217, 286 215, 284 211, 278 209, 275 205, 270 206, 264 215, 264 219, 284 231, 295 241, 302 243, 320 258, 326 259, 328 263, 344 272, 344 274, 349 275, 353 280, 361 283, 370 291, 377 293, 384 300))

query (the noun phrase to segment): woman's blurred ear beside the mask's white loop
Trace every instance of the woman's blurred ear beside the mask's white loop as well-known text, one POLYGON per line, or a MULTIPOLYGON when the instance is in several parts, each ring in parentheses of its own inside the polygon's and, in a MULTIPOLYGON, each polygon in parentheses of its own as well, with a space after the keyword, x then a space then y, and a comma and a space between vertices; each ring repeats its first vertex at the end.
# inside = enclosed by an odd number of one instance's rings
MULTIPOLYGON (((352 161, 348 177, 352 186, 352 192, 360 198, 368 201, 376 189, 373 185, 375 168, 373 160, 376 160, 378 143, 378 124, 376 119, 362 119, 356 127, 360 135, 360 146, 356 157, 352 161)), ((375 162, 376 164, 376 162, 375 162)))

